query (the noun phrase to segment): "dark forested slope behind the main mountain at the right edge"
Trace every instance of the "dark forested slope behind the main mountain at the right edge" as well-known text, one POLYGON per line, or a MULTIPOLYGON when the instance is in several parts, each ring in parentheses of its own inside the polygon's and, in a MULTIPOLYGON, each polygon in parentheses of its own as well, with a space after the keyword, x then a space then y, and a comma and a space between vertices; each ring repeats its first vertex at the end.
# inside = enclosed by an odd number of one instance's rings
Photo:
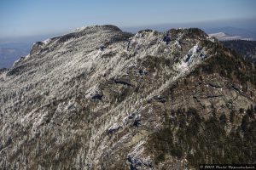
POLYGON ((250 59, 256 64, 256 42, 245 40, 233 40, 222 42, 227 48, 235 50, 243 57, 250 59))

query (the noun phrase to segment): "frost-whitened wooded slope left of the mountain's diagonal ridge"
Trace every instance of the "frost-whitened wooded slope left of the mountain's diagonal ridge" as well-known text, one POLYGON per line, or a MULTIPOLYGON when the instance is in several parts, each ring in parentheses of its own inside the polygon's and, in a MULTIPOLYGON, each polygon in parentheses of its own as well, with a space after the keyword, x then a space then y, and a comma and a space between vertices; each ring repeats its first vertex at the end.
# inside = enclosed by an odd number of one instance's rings
MULTIPOLYGON (((39 147, 39 134, 51 133, 49 138, 56 139, 55 144, 64 144, 65 141, 73 141, 74 136, 86 133, 85 139, 80 141, 86 145, 86 151, 81 148, 71 165, 90 167, 94 162, 98 166, 104 151, 118 148, 116 144, 134 138, 131 133, 126 133, 119 142, 113 143, 110 135, 139 126, 140 112, 150 112, 149 107, 144 105, 148 99, 160 94, 210 57, 208 49, 201 46, 200 39, 191 39, 185 34, 186 29, 179 30, 176 37, 167 35, 170 41, 165 41, 166 33, 157 31, 140 31, 131 35, 115 26, 89 26, 61 37, 36 42, 31 54, 0 74, 3 122, 0 125, 0 147, 12 150, 1 152, 0 158, 4 159, 0 159, 0 165, 18 166, 18 161, 11 165, 5 160, 15 154, 17 147, 31 139, 36 139, 39 147), (153 57, 160 61, 156 63, 160 64, 160 68, 154 68, 157 66, 154 62, 150 64, 153 66, 143 65, 150 63, 148 59, 153 57), (131 74, 132 71, 137 71, 137 75, 131 74), (113 97, 115 90, 119 93, 143 83, 136 79, 138 77, 152 82, 143 94, 131 94, 121 102, 113 97), (110 86, 113 87, 108 89, 110 86), (94 113, 86 117, 89 120, 95 116, 94 120, 68 121, 85 111, 94 113), (83 128, 72 129, 76 124, 83 128), (21 135, 22 132, 26 133, 21 135), (8 144, 9 139, 12 144, 8 144)), ((157 123, 155 128, 160 126, 157 123)), ((132 164, 137 159, 147 167, 150 159, 143 157, 143 136, 138 135, 137 139, 129 145, 127 163, 132 164)), ((41 147, 47 147, 45 144, 47 141, 41 147)), ((37 155, 37 147, 32 148, 32 156, 37 155)), ((29 159, 21 153, 18 157, 29 159)))

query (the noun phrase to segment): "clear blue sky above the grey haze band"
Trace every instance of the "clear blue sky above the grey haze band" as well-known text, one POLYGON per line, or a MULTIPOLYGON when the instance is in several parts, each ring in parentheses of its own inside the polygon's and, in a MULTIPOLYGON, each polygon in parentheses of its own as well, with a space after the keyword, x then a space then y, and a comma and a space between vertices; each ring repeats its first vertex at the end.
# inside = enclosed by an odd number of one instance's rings
POLYGON ((255 0, 1 0, 0 38, 119 27, 256 18, 255 0))

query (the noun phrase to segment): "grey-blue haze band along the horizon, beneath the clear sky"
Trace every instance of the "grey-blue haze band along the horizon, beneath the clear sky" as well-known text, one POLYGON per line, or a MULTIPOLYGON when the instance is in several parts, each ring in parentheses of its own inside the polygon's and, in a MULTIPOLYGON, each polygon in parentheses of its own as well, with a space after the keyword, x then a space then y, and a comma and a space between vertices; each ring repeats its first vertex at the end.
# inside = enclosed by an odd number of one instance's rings
MULTIPOLYGON (((104 25, 108 25, 105 23, 104 25)), ((81 25, 79 27, 82 27, 81 25)), ((87 25, 90 26, 90 25, 87 25)), ((117 25, 114 25, 117 26, 117 25)), ((180 27, 198 27, 203 31, 211 32, 210 30, 221 29, 221 28, 236 28, 244 29, 247 31, 256 31, 256 18, 247 19, 247 20, 214 20, 214 21, 202 21, 202 22, 187 22, 187 23, 164 23, 164 24, 155 24, 155 25, 138 25, 138 26, 118 26, 122 31, 137 32, 143 29, 152 29, 156 31, 167 31, 171 28, 180 28, 180 27)), ((0 45, 11 44, 11 43, 20 43, 20 42, 36 42, 43 41, 49 37, 57 37, 63 34, 66 34, 70 31, 75 30, 78 27, 73 27, 67 29, 66 31, 59 32, 50 32, 48 34, 38 34, 38 35, 29 35, 29 36, 17 36, 17 37, 0 37, 0 45)))

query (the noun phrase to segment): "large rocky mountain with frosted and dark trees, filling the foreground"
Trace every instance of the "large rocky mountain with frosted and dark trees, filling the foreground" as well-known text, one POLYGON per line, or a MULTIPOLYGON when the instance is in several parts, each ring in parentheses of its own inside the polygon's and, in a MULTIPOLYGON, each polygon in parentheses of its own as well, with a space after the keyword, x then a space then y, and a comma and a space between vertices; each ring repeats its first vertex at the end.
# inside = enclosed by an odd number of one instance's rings
POLYGON ((0 71, 0 168, 255 163, 256 69, 196 28, 88 26, 0 71))

